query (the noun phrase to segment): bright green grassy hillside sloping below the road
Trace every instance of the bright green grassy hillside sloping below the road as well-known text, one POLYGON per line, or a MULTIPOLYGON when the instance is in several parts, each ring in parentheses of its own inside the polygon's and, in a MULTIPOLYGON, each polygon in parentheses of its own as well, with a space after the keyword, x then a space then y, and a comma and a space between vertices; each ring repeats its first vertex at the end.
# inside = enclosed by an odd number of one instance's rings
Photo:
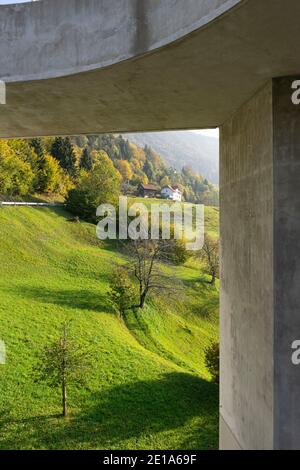
POLYGON ((0 449, 216 448, 218 390, 204 349, 218 334, 217 289, 189 262, 170 270, 185 298, 154 299, 125 326, 106 298, 122 256, 100 245, 94 226, 68 218, 62 209, 0 208, 0 449), (88 385, 70 390, 67 419, 59 391, 32 379, 36 351, 63 318, 95 357, 88 385))

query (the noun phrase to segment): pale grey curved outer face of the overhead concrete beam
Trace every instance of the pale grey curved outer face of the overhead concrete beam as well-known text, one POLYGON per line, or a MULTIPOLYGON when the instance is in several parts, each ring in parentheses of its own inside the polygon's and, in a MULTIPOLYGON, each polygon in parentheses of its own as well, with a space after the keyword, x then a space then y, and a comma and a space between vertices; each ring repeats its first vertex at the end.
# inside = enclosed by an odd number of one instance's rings
POLYGON ((40 0, 0 7, 7 82, 117 64, 199 29, 241 0, 40 0))

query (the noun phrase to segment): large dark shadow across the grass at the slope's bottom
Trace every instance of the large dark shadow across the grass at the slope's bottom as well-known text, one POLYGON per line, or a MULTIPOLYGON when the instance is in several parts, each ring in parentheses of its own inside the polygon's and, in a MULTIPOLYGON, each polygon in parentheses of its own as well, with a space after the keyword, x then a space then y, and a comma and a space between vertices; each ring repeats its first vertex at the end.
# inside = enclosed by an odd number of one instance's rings
POLYGON ((218 440, 218 388, 174 372, 92 394, 89 406, 68 419, 26 418, 11 426, 2 449, 124 449, 128 442, 133 449, 212 449, 218 440))

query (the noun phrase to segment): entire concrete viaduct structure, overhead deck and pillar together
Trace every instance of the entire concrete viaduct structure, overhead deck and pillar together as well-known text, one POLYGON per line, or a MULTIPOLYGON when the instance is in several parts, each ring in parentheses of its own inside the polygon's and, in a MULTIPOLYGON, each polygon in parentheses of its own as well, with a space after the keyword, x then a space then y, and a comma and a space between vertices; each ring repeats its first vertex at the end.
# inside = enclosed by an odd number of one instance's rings
POLYGON ((0 7, 0 136, 221 126, 222 448, 300 448, 299 17, 298 0, 0 7))

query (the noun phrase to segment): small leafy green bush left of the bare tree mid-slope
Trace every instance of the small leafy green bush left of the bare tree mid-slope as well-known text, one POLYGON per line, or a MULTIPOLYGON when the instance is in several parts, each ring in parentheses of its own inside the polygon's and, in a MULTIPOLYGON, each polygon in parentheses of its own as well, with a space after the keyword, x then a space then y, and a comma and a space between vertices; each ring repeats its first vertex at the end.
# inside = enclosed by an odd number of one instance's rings
POLYGON ((116 268, 111 276, 109 297, 118 314, 123 318, 136 298, 136 289, 125 267, 116 268))

